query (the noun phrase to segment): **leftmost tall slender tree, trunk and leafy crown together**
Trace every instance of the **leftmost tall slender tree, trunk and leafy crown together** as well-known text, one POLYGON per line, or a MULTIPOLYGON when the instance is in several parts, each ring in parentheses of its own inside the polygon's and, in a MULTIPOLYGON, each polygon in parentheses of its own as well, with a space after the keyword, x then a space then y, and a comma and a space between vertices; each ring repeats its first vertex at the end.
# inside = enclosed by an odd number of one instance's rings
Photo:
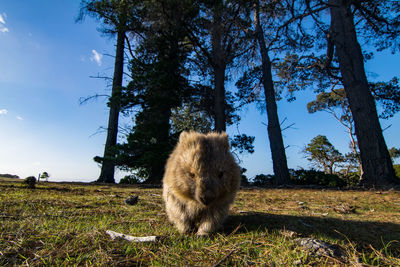
POLYGON ((111 89, 111 97, 108 106, 110 108, 107 127, 107 139, 104 146, 104 155, 101 160, 101 173, 98 182, 115 183, 115 155, 118 135, 118 120, 121 109, 122 78, 124 71, 124 49, 127 32, 138 26, 133 19, 135 8, 138 6, 136 1, 117 1, 117 0, 82 0, 80 17, 82 20, 88 14, 101 21, 102 32, 110 35, 117 35, 117 45, 114 62, 114 75, 111 89))

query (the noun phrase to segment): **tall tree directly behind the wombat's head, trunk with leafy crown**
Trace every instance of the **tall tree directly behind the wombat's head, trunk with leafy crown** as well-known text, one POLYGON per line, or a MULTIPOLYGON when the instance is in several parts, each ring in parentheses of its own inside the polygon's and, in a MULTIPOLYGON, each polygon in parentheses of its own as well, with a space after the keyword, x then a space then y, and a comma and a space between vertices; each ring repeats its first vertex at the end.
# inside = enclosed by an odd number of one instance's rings
POLYGON ((246 1, 195 1, 199 8, 196 23, 182 21, 196 49, 199 75, 211 76, 215 131, 226 131, 229 120, 226 72, 235 60, 247 52, 249 9, 246 1))

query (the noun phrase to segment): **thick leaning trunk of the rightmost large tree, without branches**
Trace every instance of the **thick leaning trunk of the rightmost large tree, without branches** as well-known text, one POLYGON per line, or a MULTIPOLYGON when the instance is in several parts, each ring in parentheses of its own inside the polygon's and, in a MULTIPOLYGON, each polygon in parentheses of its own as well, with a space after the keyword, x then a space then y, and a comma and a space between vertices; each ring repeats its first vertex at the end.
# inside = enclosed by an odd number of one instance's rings
POLYGON ((354 118, 366 187, 397 183, 383 138, 374 99, 364 70, 363 55, 354 26, 351 3, 329 0, 332 40, 339 59, 343 85, 354 118))

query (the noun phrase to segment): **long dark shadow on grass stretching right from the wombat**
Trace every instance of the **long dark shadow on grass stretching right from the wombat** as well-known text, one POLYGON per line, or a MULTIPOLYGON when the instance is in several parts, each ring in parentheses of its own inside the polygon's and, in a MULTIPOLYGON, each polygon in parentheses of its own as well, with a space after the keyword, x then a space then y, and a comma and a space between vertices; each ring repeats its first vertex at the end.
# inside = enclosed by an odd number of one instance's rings
MULTIPOLYGON (((348 239, 361 248, 368 248, 371 244, 374 248, 381 249, 392 240, 400 240, 400 224, 387 222, 252 212, 230 215, 224 224, 226 234, 265 230, 289 230, 304 237, 316 235, 344 241, 348 239)), ((391 248, 400 255, 399 242, 394 242, 391 248)))

